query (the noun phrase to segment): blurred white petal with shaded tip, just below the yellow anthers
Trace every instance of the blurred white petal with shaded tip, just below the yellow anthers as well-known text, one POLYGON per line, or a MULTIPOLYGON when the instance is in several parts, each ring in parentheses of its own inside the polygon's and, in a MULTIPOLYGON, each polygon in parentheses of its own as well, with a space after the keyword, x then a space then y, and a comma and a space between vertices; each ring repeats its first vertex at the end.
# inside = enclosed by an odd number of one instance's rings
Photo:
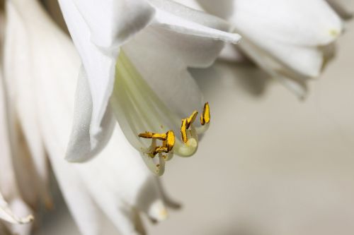
POLYGON ((156 179, 118 126, 98 157, 77 167, 98 205, 122 234, 135 231, 133 207, 156 220, 166 217, 156 179))

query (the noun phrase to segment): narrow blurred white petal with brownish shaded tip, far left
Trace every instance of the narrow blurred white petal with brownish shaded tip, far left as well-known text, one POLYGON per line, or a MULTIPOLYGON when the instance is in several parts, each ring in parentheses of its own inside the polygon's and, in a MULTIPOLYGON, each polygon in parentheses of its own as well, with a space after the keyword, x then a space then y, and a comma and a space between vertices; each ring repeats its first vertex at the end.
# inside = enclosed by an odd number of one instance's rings
POLYGON ((30 54, 30 44, 22 40, 26 37, 23 22, 28 18, 28 14, 21 16, 23 9, 27 8, 22 1, 6 1, 4 74, 8 92, 7 114, 13 169, 23 199, 34 206, 38 203, 38 197, 41 197, 46 205, 50 206, 47 159, 42 146, 42 136, 38 131, 37 114, 34 112, 34 84, 29 79, 33 71, 30 64, 24 60, 30 54), (21 65, 21 68, 18 68, 18 65, 21 65))

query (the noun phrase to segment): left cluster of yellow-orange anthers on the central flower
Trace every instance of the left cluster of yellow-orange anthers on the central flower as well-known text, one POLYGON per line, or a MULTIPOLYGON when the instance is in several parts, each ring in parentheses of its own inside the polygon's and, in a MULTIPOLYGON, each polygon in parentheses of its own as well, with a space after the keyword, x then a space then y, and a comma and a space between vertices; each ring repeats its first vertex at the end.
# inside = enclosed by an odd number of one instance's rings
POLYGON ((162 146, 156 146, 155 149, 150 152, 150 157, 154 158, 156 154, 158 153, 169 153, 173 149, 173 146, 175 144, 175 134, 173 131, 167 131, 166 133, 152 133, 152 132, 144 132, 140 133, 138 135, 141 138, 146 138, 146 139, 157 139, 157 140, 163 140, 162 146))

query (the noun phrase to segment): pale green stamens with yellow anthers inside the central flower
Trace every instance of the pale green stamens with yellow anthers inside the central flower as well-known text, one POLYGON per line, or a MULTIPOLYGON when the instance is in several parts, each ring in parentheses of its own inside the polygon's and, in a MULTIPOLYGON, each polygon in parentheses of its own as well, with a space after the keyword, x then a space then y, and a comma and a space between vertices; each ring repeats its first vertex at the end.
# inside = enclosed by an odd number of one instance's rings
POLYGON ((164 174, 165 162, 173 154, 193 155, 198 150, 198 135, 207 131, 210 123, 208 103, 200 116, 201 126, 193 124, 197 111, 181 119, 161 101, 122 51, 110 103, 125 137, 141 153, 147 167, 158 175, 164 174), (176 138, 178 132, 181 138, 176 138))

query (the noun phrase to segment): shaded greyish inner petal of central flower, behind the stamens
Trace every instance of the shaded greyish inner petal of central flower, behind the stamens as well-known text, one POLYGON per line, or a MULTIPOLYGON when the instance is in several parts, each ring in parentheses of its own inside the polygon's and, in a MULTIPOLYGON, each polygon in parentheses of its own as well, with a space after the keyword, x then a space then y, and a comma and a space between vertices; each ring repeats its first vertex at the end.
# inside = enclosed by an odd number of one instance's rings
POLYGON ((183 56, 178 56, 188 55, 188 49, 193 50, 179 44, 179 38, 184 42, 180 36, 149 28, 125 44, 123 49, 156 95, 174 112, 186 116, 202 107, 202 93, 187 71, 183 56))

